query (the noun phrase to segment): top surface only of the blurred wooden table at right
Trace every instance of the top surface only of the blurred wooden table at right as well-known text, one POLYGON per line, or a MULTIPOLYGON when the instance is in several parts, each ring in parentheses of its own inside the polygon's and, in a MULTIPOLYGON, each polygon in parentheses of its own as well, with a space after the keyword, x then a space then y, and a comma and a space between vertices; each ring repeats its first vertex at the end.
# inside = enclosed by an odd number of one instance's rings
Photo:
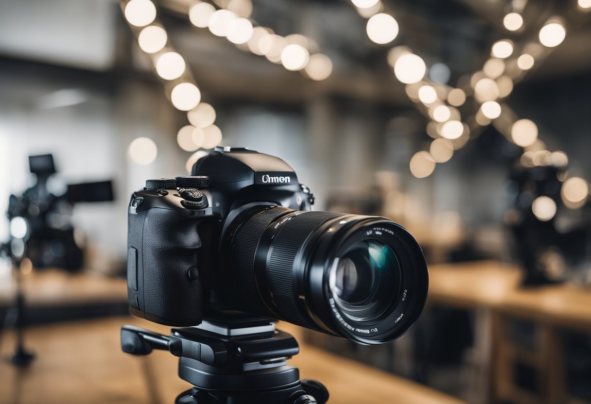
POLYGON ((521 287, 518 266, 495 261, 429 266, 430 302, 491 307, 528 320, 591 331, 591 289, 559 284, 521 287))

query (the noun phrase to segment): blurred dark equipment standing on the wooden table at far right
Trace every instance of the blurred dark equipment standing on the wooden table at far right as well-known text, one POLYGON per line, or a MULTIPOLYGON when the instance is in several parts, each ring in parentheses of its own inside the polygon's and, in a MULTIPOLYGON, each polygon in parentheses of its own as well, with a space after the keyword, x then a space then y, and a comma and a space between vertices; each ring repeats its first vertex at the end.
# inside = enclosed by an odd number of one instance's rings
POLYGON ((516 166, 509 175, 505 223, 525 271, 523 285, 591 284, 589 204, 573 210, 564 203, 566 176, 566 167, 554 165, 516 166))

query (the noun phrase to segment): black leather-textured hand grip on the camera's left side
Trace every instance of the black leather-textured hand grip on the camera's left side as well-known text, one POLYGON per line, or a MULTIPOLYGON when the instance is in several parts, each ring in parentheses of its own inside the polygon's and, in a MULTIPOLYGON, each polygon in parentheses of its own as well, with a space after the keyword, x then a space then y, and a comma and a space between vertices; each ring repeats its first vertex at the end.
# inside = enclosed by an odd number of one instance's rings
MULTIPOLYGON (((152 208, 144 220, 141 262, 143 311, 148 320, 176 327, 198 325, 203 318, 203 288, 189 277, 202 245, 190 210, 152 208)), ((194 275, 193 271, 193 275, 194 275)))

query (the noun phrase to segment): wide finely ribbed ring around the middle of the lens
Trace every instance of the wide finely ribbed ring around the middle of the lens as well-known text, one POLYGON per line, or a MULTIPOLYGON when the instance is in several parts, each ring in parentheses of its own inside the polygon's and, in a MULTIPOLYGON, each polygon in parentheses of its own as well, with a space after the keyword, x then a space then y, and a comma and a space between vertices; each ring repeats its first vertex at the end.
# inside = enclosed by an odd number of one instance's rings
POLYGON ((288 220, 274 237, 267 259, 267 276, 275 304, 285 320, 310 327, 296 305, 294 263, 296 255, 310 234, 333 217, 333 212, 304 212, 288 220))

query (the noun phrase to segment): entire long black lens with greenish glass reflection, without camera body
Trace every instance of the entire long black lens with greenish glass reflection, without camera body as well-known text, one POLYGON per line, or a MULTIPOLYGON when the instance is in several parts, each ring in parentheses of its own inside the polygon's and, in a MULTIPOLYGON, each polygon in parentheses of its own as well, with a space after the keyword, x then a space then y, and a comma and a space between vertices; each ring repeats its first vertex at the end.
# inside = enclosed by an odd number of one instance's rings
POLYGON ((228 279, 240 311, 382 344, 423 310, 423 252, 392 220, 272 206, 236 221, 228 279))

